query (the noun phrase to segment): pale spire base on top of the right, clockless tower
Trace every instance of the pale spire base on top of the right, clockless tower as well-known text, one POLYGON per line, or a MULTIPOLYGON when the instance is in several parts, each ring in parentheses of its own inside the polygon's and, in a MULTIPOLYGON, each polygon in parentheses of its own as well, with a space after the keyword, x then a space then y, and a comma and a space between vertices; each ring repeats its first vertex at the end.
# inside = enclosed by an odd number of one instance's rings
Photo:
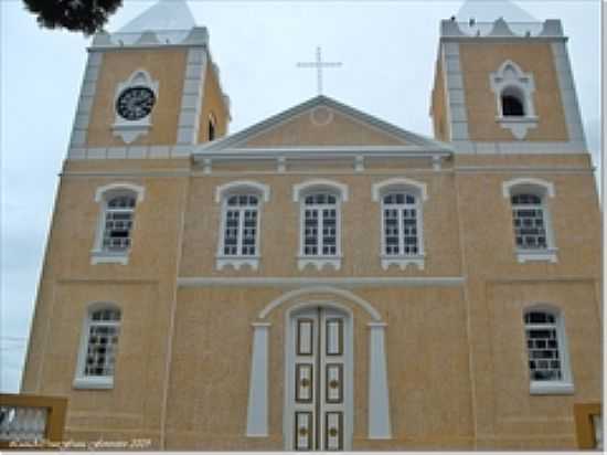
POLYGON ((458 21, 493 22, 503 18, 507 22, 539 22, 533 15, 509 0, 467 0, 458 13, 458 21))

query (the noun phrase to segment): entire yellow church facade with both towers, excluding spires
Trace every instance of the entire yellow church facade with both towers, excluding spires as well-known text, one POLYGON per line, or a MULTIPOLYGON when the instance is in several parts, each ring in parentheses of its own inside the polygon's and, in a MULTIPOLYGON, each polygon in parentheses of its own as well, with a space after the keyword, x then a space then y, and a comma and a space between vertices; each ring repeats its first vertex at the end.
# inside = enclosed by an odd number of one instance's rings
POLYGON ((600 220, 535 28, 441 22, 435 138, 326 96, 227 135, 206 29, 96 35, 22 392, 150 448, 575 448, 600 220))

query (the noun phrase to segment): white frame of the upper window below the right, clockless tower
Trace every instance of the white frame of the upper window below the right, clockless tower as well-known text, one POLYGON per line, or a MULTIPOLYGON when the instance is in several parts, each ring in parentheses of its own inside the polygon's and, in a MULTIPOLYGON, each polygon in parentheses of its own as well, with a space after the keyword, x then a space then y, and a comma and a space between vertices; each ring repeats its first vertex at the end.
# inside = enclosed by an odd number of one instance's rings
MULTIPOLYGON (((508 199, 510 215, 512 215, 512 201, 511 198, 517 194, 529 193, 541 198, 541 209, 543 212, 544 225, 546 230, 546 247, 545 248, 519 248, 517 246, 517 240, 514 239, 514 223, 510 223, 510 229, 513 235, 514 252, 519 263, 526 263, 532 261, 544 261, 556 263, 558 261, 558 248, 555 244, 555 235, 552 223, 552 216, 547 207, 547 198, 554 198, 554 184, 546 180, 535 178, 520 178, 512 179, 503 182, 502 195, 508 199)), ((537 208, 537 207, 535 207, 537 208)))

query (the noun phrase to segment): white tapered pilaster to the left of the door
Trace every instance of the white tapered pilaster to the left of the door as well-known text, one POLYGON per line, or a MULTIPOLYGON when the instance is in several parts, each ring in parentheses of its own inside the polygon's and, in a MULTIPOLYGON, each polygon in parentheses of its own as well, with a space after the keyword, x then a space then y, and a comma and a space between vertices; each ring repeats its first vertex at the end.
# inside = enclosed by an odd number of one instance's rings
POLYGON ((268 322, 253 324, 253 355, 248 384, 246 435, 268 435, 268 322))

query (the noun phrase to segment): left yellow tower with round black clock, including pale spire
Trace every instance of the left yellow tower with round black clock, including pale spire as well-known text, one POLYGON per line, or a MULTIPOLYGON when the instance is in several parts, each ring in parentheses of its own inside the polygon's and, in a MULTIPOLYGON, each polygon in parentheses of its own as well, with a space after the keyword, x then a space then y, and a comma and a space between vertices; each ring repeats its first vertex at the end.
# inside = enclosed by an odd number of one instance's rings
POLYGON ((184 1, 161 0, 94 38, 68 158, 187 156, 224 136, 228 121, 206 28, 184 1))

